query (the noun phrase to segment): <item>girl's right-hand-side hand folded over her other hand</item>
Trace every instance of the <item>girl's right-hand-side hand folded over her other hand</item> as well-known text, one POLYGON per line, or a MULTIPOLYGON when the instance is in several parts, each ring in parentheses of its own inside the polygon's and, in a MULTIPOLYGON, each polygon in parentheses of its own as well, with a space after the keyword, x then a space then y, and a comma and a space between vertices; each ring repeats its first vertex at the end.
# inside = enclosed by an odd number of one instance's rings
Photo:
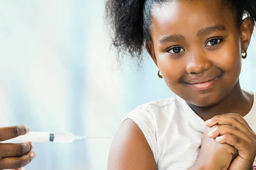
POLYGON ((210 138, 220 144, 232 145, 238 151, 228 170, 252 169, 256 157, 256 134, 241 115, 222 114, 214 116, 205 123, 208 127, 213 127, 208 133, 210 138))

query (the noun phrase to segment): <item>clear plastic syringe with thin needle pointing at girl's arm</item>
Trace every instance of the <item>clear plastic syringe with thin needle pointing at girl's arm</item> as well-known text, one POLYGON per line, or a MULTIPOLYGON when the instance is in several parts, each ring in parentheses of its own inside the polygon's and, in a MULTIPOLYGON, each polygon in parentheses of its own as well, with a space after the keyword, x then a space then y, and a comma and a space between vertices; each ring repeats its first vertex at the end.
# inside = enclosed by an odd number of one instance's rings
POLYGON ((73 142, 73 140, 75 139, 87 139, 87 138, 108 139, 107 137, 74 136, 72 133, 29 132, 26 135, 18 136, 8 141, 70 143, 70 142, 73 142))

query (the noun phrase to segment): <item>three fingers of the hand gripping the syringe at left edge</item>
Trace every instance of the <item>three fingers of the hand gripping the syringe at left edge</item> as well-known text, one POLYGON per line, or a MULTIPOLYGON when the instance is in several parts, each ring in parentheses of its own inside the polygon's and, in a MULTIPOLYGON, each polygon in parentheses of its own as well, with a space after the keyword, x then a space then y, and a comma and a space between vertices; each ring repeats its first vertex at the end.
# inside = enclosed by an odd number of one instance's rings
MULTIPOLYGON (((26 125, 0 127, 0 142, 29 133, 26 125)), ((35 158, 32 142, 0 143, 0 170, 17 169, 29 164, 35 158)))

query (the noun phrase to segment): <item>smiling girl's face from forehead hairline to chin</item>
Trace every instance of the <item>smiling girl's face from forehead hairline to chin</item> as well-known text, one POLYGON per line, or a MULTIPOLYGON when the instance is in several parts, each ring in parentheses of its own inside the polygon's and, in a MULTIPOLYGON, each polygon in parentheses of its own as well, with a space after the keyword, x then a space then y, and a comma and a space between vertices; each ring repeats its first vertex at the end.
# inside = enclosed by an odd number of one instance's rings
MULTIPOLYGON (((179 0, 152 8, 146 46, 166 84, 198 106, 220 102, 239 83, 242 40, 221 0, 179 0)), ((239 85, 239 84, 238 84, 239 85)))

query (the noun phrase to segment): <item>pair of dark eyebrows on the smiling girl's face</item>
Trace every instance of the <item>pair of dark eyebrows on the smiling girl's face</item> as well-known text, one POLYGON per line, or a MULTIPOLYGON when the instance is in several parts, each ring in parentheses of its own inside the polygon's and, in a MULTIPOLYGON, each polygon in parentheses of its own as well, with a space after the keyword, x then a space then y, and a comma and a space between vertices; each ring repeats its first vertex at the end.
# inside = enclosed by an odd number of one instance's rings
MULTIPOLYGON (((205 28, 200 29, 197 32, 196 35, 197 35, 197 37, 200 37, 201 35, 209 34, 213 31, 227 31, 227 29, 223 25, 209 26, 209 27, 205 27, 205 28)), ((175 40, 185 40, 185 37, 183 35, 180 35, 180 34, 173 34, 173 35, 170 35, 170 36, 161 37, 159 42, 164 43, 164 42, 170 42, 170 41, 175 41, 175 40)))

